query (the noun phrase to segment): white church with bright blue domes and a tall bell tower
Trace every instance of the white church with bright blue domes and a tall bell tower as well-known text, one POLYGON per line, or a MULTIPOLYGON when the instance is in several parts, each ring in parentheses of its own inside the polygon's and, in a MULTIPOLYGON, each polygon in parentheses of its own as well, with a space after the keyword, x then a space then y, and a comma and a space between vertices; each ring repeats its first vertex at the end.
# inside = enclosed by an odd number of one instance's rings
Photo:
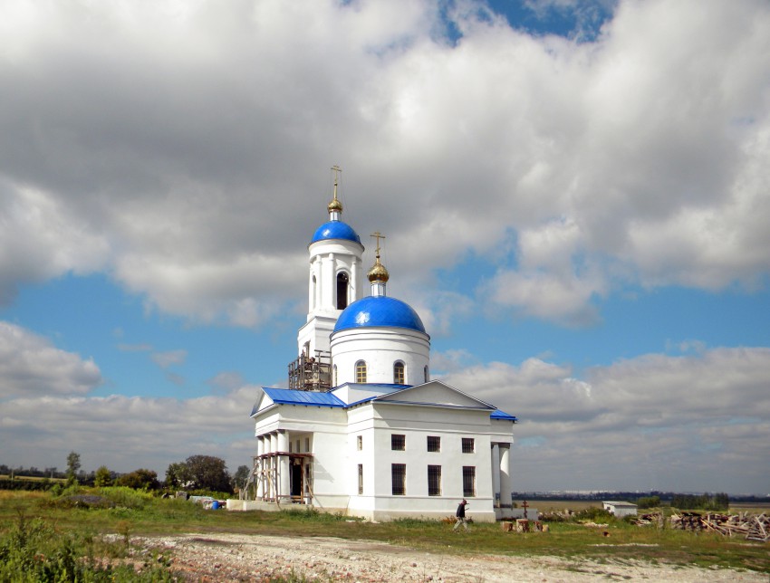
POLYGON ((361 239, 341 218, 338 169, 329 220, 308 246, 307 321, 289 386, 262 387, 251 414, 253 500, 228 508, 303 504, 389 521, 453 515, 465 498, 475 521, 508 516, 516 418, 431 380, 430 337, 418 313, 387 294, 380 234, 374 265, 362 268, 361 239))

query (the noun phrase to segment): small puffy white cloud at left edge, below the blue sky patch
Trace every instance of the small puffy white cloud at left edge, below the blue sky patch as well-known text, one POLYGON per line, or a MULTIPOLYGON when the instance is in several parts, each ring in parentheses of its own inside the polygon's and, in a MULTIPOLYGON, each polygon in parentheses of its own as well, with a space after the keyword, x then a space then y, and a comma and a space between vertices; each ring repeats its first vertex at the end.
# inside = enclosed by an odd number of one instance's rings
POLYGON ((103 379, 93 360, 57 349, 47 339, 0 321, 0 399, 84 394, 103 379))

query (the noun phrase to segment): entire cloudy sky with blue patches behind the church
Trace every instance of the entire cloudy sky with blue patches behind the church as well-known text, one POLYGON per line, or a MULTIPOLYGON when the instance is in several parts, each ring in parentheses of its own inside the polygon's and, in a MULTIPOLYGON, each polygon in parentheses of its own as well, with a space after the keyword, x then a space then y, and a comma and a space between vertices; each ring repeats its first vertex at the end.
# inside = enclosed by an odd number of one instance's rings
POLYGON ((770 492, 765 0, 0 0, 0 463, 250 464, 332 165, 515 489, 770 492))

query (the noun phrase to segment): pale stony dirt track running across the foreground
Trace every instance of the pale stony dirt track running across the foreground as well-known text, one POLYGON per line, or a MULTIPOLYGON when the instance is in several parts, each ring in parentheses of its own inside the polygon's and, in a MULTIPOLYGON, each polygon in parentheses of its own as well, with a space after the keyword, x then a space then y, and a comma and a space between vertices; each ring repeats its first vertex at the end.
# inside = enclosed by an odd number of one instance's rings
MULTIPOLYGON (((457 548, 462 537, 457 533, 457 548)), ((173 551, 173 568, 189 581, 260 581, 292 574, 313 581, 761 581, 749 571, 661 566, 622 560, 556 557, 457 557, 406 547, 333 538, 291 539, 243 534, 188 534, 145 539, 173 551)))

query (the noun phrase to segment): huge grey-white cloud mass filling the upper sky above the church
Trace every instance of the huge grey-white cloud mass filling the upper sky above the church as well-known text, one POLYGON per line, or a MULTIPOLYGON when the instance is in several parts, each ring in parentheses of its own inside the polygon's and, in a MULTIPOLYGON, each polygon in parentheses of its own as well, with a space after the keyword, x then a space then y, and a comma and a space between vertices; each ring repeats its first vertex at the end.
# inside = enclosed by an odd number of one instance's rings
POLYGON ((476 253, 499 267, 480 299, 536 318, 593 321, 628 283, 761 284, 766 3, 621 2, 592 42, 475 7, 453 46, 430 2, 4 3, 0 301, 105 271, 264 325, 303 299, 333 163, 394 277, 435 288, 426 265, 476 253))

